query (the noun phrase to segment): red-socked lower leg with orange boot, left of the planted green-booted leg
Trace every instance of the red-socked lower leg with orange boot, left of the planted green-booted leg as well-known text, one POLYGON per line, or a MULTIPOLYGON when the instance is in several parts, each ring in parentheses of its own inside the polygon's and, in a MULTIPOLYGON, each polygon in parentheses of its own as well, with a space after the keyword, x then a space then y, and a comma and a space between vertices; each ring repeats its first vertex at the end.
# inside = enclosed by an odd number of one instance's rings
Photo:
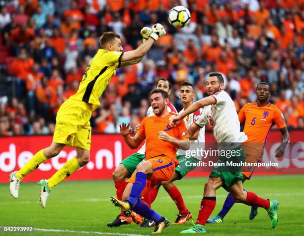
POLYGON ((169 196, 172 198, 179 211, 173 225, 185 224, 187 221, 189 221, 192 218, 192 213, 186 207, 181 193, 179 192, 178 188, 172 183, 178 179, 179 179, 178 174, 174 172, 174 174, 168 181, 161 182, 163 188, 167 191, 169 196))

